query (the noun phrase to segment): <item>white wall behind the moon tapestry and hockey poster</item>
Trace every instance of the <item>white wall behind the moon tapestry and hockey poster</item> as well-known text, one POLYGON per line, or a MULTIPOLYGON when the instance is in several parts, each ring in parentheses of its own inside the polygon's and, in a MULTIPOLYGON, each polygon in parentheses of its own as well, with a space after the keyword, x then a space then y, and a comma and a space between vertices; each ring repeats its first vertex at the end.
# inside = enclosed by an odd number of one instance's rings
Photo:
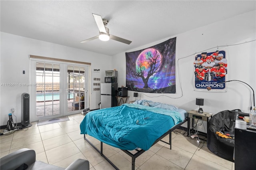
MULTIPOLYGON (((171 32, 171 30, 170 30, 171 32)), ((176 39, 176 94, 139 93, 138 99, 148 99, 175 105, 179 108, 198 110, 196 97, 204 98, 205 112, 216 114, 223 110, 241 109, 249 112, 252 91, 239 82, 227 83, 227 92, 202 92, 194 91, 194 61, 195 53, 201 51, 216 51, 212 48, 221 45, 232 45, 256 40, 256 11, 248 12, 234 18, 216 22, 208 26, 178 34, 176 39), (212 48, 212 49, 210 49, 212 48), (209 50, 206 50, 209 49, 209 50), (186 57, 189 56, 190 57, 186 57), (183 57, 186 57, 182 59, 183 57), (179 61, 178 61, 179 59, 179 61), (179 71, 179 72, 178 72, 179 71), (181 83, 181 86, 180 86, 181 83), (183 92, 183 95, 182 95, 183 92)), ((170 37, 173 38, 173 37, 170 37)), ((168 40, 160 40, 132 49, 136 51, 168 40)), ((256 43, 244 43, 241 45, 219 47, 225 49, 228 60, 227 80, 237 79, 248 83, 256 90, 256 43)), ((118 84, 126 84, 125 52, 112 57, 112 65, 118 70, 118 84), (124 63, 120 65, 119 63, 124 63)), ((130 100, 134 100, 133 91, 128 91, 130 100)), ((204 123, 205 124, 205 123, 204 123)), ((206 126, 205 126, 206 127, 206 126)), ((200 131, 204 131, 204 127, 200 131)))

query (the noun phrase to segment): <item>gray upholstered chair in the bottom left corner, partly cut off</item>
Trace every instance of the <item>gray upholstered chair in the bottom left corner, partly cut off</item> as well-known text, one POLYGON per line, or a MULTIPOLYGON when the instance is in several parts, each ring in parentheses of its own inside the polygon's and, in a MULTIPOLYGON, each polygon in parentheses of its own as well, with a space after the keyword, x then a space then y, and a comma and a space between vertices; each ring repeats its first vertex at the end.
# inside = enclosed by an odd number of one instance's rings
POLYGON ((36 152, 32 149, 23 148, 16 150, 0 158, 1 170, 89 170, 89 161, 84 159, 75 160, 66 169, 36 161, 36 152))

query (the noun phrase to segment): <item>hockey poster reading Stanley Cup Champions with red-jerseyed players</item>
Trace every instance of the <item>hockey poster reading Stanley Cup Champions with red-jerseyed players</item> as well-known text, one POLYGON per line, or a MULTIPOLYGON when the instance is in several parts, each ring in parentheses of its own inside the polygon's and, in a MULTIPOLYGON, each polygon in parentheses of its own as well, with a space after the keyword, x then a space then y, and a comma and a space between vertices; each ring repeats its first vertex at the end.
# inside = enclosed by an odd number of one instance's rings
POLYGON ((202 52, 194 60, 195 90, 225 89, 228 63, 225 51, 202 52), (219 84, 222 83, 222 84, 219 84))

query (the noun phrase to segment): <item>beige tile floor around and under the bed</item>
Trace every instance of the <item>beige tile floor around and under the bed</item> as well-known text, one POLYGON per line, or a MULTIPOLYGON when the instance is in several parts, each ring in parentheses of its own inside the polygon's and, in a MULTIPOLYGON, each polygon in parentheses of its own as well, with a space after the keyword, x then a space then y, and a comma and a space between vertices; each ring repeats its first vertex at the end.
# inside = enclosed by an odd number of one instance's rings
MULTIPOLYGON (((114 168, 92 148, 80 134, 81 114, 69 116, 70 121, 37 126, 15 131, 10 135, 0 136, 0 156, 5 156, 20 148, 36 151, 36 160, 66 168, 78 158, 89 160, 90 170, 113 170, 114 168)), ((1 129, 1 132, 3 129, 1 129)), ((212 154, 206 142, 183 135, 185 131, 172 132, 172 150, 159 141, 149 150, 136 158, 137 170, 234 170, 234 163, 212 154)), ((100 142, 87 136, 100 148, 100 142)), ((164 138, 168 140, 168 136, 164 138)), ((131 158, 122 150, 103 144, 104 154, 120 170, 131 170, 131 158)))

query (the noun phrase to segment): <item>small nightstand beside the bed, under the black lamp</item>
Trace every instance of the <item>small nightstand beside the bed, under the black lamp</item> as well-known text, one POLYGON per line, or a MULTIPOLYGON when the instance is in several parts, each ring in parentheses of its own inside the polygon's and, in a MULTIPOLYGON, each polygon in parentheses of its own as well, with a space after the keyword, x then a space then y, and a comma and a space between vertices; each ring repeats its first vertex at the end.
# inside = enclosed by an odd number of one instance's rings
MULTIPOLYGON (((206 121, 207 122, 207 130, 209 128, 209 118, 212 117, 212 114, 210 113, 198 113, 197 111, 191 110, 188 111, 188 131, 187 133, 189 134, 189 129, 190 129, 190 118, 192 118, 192 125, 194 125, 194 119, 199 119, 202 121, 206 121)), ((188 136, 188 135, 187 135, 188 136)))

